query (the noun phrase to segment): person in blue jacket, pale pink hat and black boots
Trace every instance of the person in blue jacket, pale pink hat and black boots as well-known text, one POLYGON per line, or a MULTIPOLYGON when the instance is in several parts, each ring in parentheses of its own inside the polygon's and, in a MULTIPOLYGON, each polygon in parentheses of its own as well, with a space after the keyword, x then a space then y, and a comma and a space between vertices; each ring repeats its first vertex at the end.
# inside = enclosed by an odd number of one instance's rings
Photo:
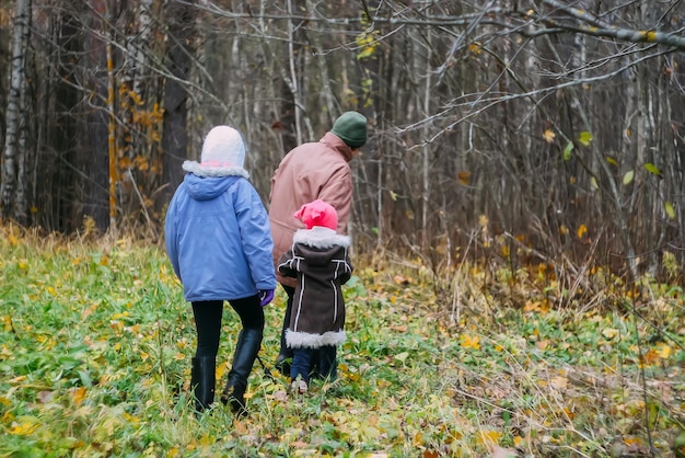
POLYGON ((237 130, 212 128, 201 162, 185 161, 188 172, 166 213, 166 252, 193 305, 197 350, 190 386, 198 412, 214 400, 216 364, 223 301, 237 312, 240 332, 221 394, 234 412, 244 412, 247 377, 262 345, 264 310, 274 298, 274 242, 259 195, 243 168, 245 146, 237 130))

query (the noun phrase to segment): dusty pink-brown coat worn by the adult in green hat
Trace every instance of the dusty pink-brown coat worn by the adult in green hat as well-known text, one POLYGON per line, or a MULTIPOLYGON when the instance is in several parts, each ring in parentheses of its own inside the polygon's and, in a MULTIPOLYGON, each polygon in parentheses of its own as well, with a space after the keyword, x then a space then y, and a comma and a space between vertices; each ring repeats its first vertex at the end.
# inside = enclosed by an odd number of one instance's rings
MULTIPOLYGON (((293 214, 304 204, 321 198, 338 214, 338 233, 347 233, 352 199, 352 150, 333 133, 318 141, 293 148, 281 161, 271 179, 269 222, 274 239, 274 265, 292 247, 292 236, 304 225, 293 214)), ((276 277, 294 287, 294 278, 276 277)))

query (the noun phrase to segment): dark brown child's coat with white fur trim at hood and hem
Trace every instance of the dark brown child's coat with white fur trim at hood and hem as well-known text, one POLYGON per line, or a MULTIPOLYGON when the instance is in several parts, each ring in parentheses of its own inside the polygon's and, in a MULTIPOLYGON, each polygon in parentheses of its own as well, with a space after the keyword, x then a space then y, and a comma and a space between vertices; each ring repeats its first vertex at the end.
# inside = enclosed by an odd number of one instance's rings
POLYGON ((345 342, 345 299, 341 285, 350 279, 349 237, 333 229, 300 229, 292 250, 280 259, 278 271, 295 277, 292 314, 286 332, 291 348, 320 348, 345 342))

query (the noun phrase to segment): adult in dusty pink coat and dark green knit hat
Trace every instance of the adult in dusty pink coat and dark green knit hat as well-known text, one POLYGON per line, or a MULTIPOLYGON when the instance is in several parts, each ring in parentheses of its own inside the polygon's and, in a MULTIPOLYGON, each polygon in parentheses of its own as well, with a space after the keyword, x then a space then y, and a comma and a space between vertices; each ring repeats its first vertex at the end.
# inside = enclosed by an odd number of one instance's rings
MULTIPOLYGON (((317 198, 330 204, 338 214, 338 233, 347 233, 352 201, 352 172, 349 161, 367 142, 367 118, 357 112, 342 113, 318 141, 300 145, 286 154, 271 178, 269 222, 274 239, 274 265, 292 247, 292 237, 304 226, 292 215, 317 198)), ((286 329, 292 312, 295 279, 277 272, 288 301, 276 366, 290 374, 292 348, 286 345, 286 329)))

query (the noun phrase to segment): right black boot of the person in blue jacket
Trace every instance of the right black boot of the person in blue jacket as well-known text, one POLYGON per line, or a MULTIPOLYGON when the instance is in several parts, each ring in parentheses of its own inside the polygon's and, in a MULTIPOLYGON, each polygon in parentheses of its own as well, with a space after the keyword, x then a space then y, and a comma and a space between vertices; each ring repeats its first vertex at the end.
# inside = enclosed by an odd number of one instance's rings
POLYGON ((237 337, 235 353, 233 354, 233 366, 229 371, 229 380, 221 393, 221 402, 230 404, 231 411, 244 414, 245 390, 247 389, 247 377, 255 364, 259 348, 262 347, 262 331, 256 329, 243 329, 237 337))

